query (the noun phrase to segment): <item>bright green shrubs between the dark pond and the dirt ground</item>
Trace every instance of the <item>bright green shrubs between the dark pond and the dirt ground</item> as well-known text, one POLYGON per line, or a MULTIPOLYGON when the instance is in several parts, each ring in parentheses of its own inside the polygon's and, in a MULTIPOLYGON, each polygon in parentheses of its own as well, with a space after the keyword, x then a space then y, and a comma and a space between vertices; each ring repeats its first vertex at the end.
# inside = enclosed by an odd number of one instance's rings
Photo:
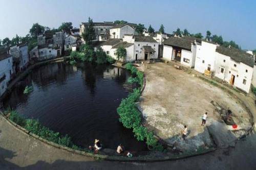
MULTIPOLYGON (((143 86, 143 73, 134 67, 132 63, 127 63, 126 69, 131 70, 135 75, 134 78, 129 78, 128 82, 139 82, 141 88, 143 86)), ((136 88, 126 99, 122 99, 119 107, 117 108, 117 113, 120 116, 119 121, 125 128, 133 128, 134 136, 137 140, 145 140, 146 144, 152 147, 153 150, 162 151, 163 146, 154 138, 154 134, 141 125, 141 113, 136 105, 139 95, 140 89, 136 88)))

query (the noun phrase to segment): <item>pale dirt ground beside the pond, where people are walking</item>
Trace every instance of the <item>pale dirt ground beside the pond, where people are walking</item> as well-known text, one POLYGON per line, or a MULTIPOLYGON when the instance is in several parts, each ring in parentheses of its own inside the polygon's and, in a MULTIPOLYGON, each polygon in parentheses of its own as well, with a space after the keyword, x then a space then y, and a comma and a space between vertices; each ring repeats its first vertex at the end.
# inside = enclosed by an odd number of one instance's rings
POLYGON ((178 142, 181 150, 197 150, 200 147, 232 145, 249 128, 249 115, 237 99, 183 70, 158 62, 144 70, 146 86, 139 109, 145 125, 169 144, 178 142), (210 102, 233 112, 239 132, 233 133, 221 119, 210 102), (201 126, 201 116, 207 112, 206 126, 201 126), (188 135, 181 139, 181 130, 188 127, 188 135), (210 137, 211 136, 211 137, 210 137))

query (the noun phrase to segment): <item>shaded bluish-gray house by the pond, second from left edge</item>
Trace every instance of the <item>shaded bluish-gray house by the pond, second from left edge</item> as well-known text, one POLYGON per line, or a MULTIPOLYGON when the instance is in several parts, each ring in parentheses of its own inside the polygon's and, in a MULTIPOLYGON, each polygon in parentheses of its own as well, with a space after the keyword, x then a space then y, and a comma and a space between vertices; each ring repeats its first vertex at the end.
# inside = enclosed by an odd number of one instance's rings
POLYGON ((27 44, 11 46, 9 53, 13 57, 16 73, 26 69, 29 64, 29 53, 27 44))

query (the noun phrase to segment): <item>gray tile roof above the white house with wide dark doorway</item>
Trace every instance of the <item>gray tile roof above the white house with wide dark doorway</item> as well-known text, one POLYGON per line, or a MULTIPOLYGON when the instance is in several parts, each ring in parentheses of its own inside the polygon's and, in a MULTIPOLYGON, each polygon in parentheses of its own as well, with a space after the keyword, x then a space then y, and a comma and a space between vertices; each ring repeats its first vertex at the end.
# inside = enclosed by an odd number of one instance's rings
POLYGON ((191 51, 191 42, 193 42, 193 39, 190 38, 170 37, 167 40, 163 41, 163 44, 169 46, 177 46, 185 50, 191 51))

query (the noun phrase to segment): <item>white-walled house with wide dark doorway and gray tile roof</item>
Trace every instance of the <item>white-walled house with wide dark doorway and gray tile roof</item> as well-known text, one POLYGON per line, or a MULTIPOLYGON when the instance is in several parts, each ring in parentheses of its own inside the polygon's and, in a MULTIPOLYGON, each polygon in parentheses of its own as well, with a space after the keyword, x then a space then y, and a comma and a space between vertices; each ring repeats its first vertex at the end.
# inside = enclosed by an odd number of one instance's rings
POLYGON ((201 40, 192 37, 170 37, 163 42, 163 59, 174 60, 192 68, 195 66, 197 43, 201 43, 201 40))

